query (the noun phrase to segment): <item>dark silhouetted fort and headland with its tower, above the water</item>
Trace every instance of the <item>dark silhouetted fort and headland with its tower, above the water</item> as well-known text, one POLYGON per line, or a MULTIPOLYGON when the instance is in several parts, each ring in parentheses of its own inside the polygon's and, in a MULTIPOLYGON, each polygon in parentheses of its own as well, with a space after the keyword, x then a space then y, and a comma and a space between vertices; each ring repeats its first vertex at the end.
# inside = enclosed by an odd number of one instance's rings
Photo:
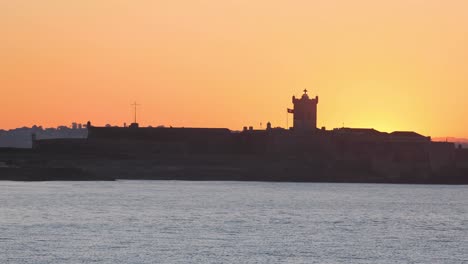
POLYGON ((33 135, 32 149, 0 150, 0 178, 468 184, 467 149, 415 132, 318 129, 318 96, 292 102, 288 129, 139 127, 135 116, 129 127, 88 122, 83 139, 33 135))

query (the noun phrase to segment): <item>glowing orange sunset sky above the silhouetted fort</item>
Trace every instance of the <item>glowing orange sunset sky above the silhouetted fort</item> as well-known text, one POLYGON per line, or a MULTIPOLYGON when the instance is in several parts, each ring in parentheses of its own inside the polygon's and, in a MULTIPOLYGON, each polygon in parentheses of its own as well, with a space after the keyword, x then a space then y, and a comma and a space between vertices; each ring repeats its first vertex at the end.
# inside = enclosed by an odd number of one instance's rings
POLYGON ((0 128, 318 125, 468 136, 465 0, 0 1, 0 128), (291 125, 291 117, 289 119, 291 125))

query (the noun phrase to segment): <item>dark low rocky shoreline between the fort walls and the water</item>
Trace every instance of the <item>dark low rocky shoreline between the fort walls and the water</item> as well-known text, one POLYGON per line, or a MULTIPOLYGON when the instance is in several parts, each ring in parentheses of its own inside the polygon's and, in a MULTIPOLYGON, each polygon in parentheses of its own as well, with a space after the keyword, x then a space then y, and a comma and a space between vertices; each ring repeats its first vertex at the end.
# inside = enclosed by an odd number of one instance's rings
MULTIPOLYGON (((50 157, 49 157, 50 158, 50 157)), ((227 159, 229 160, 229 159, 227 159)), ((381 175, 366 168, 329 167, 326 164, 275 162, 271 159, 247 162, 212 161, 199 164, 190 159, 26 159, 23 166, 0 167, 0 180, 11 181, 266 181, 394 184, 468 184, 468 171, 423 175, 381 175), (26 165, 27 164, 27 165, 26 165), (26 165, 26 166, 25 166, 26 165), (313 168, 313 172, 311 172, 313 168)))

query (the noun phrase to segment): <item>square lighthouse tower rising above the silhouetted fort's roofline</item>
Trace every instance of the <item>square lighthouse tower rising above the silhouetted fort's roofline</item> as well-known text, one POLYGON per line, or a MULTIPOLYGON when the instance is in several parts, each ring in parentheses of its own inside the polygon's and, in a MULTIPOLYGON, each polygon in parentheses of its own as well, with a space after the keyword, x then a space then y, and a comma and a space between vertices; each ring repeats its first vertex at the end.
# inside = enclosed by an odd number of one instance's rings
POLYGON ((317 104, 318 96, 309 98, 307 89, 301 98, 293 96, 292 102, 294 109, 294 130, 295 131, 312 131, 317 129, 317 104))

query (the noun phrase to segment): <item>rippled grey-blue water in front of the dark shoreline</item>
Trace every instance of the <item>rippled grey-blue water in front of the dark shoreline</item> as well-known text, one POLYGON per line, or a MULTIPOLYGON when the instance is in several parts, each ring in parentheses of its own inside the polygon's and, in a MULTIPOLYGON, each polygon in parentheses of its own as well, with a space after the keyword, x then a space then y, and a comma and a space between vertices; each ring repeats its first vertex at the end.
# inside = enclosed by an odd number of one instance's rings
POLYGON ((0 182, 0 263, 468 263, 468 186, 0 182))

